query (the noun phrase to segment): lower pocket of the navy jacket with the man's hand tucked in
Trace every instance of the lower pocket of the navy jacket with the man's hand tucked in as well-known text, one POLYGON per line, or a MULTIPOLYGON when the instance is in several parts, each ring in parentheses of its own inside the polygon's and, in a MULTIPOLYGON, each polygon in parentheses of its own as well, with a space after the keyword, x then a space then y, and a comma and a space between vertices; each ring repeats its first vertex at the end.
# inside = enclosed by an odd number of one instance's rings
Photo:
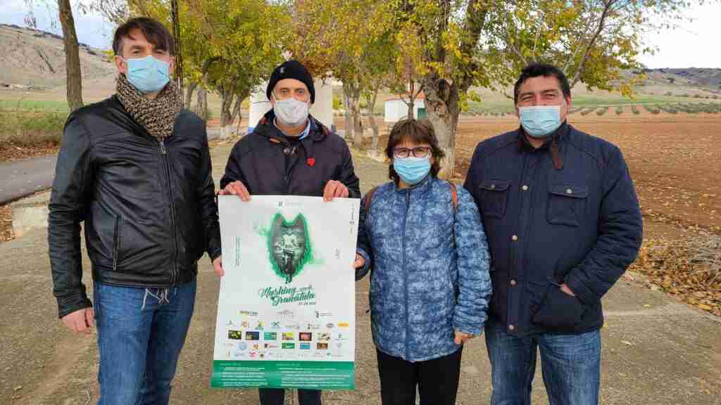
POLYGON ((583 303, 551 283, 531 322, 548 331, 572 332, 583 318, 583 303))

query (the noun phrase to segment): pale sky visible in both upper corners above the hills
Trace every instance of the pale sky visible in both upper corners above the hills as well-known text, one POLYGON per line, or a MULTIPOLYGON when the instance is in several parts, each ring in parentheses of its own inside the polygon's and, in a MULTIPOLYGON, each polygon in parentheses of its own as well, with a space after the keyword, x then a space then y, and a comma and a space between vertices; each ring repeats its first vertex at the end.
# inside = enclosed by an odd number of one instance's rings
MULTIPOLYGON (((71 0, 71 3, 75 3, 71 0)), ((51 22, 57 20, 56 1, 35 0, 33 14, 37 19, 37 28, 61 35, 58 24, 52 27, 51 22), (44 4, 52 4, 48 9, 44 4)), ((27 14, 24 0, 0 0, 0 23, 24 26, 23 19, 27 14)), ((694 6, 686 12, 692 22, 684 22, 677 30, 653 32, 646 37, 646 44, 658 48, 655 55, 642 55, 640 61, 649 68, 721 68, 721 52, 719 51, 719 17, 721 4, 694 6)), ((78 15, 75 13, 75 26, 78 40, 96 48, 110 48, 112 41, 112 25, 97 15, 78 15)))

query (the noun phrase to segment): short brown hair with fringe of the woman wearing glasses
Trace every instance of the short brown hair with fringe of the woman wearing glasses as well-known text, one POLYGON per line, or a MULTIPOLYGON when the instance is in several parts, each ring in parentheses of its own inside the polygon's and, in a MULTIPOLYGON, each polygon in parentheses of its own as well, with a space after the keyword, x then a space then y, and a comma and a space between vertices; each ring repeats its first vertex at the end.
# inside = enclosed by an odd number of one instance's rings
MULTIPOLYGON (((433 156, 430 174, 433 177, 438 177, 438 172, 441 171, 441 159, 446 156, 446 153, 443 152, 441 146, 438 146, 438 138, 435 137, 433 124, 429 120, 414 120, 412 118, 398 121, 393 125, 388 138, 388 145, 386 146, 388 159, 393 159, 394 149, 403 141, 410 141, 410 143, 416 145, 423 143, 430 145, 430 153, 433 156)), ((398 179, 396 171, 393 169, 393 162, 388 166, 388 178, 392 180, 398 179)))

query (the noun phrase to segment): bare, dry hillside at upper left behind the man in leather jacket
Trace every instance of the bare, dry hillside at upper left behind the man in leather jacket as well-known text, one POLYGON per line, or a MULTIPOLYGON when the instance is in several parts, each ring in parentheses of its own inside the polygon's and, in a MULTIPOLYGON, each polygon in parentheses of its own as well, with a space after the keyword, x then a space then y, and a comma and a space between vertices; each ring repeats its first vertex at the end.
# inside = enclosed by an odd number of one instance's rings
MULTIPOLYGON (((48 89, 64 86, 65 50, 59 35, 17 25, 0 25, 0 84, 48 89)), ((80 45, 84 81, 115 76, 102 50, 80 45)))

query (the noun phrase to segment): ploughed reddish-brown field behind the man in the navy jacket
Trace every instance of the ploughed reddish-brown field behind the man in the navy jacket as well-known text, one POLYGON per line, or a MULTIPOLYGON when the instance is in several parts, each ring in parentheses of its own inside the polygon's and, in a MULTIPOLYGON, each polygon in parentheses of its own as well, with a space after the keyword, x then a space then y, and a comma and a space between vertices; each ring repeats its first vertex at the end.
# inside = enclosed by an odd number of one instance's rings
MULTIPOLYGON (((636 184, 645 237, 689 228, 721 234, 721 115, 570 115, 575 128, 621 148, 636 184)), ((456 176, 465 177, 479 141, 517 128, 506 117, 464 117, 456 135, 456 176)))

